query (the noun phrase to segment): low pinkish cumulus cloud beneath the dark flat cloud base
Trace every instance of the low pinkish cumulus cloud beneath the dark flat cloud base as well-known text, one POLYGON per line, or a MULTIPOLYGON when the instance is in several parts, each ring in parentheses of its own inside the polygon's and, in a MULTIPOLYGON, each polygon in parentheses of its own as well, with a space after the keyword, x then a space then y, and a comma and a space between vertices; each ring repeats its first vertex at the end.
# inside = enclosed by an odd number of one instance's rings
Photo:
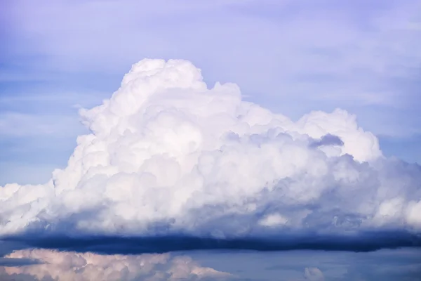
POLYGON ((0 267, 1 280, 227 280, 229 273, 199 266, 188 256, 142 254, 98 255, 29 249, 14 251, 9 259, 32 259, 40 264, 0 267))

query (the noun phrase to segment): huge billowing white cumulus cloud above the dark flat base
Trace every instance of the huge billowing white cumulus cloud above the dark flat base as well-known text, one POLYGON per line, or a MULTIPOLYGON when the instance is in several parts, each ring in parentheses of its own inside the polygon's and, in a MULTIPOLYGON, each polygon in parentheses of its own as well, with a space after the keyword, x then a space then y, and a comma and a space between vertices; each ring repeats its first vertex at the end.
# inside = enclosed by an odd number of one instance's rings
POLYGON ((91 133, 65 169, 0 188, 1 235, 421 229, 420 166, 385 159, 345 110, 293 122, 188 61, 145 59, 80 115, 91 133))

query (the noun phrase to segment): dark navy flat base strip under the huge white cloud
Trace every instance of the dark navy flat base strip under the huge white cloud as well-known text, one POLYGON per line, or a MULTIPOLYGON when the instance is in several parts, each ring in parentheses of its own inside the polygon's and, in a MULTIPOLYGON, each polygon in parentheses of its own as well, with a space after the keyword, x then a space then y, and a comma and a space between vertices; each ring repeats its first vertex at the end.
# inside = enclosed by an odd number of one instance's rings
POLYGON ((241 237, 218 239, 189 235, 121 237, 89 235, 20 235, 4 237, 20 248, 58 249, 60 251, 93 251, 99 254, 144 254, 192 250, 289 251, 298 249, 326 251, 376 251, 400 247, 421 247, 421 235, 405 232, 363 233, 352 236, 241 237))

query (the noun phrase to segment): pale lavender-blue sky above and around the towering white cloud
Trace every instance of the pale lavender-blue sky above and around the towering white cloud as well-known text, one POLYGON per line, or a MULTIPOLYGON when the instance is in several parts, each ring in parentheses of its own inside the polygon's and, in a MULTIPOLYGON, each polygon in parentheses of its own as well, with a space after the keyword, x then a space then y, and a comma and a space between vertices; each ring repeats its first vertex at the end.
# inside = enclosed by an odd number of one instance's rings
POLYGON ((6 0, 0 11, 0 185, 43 183, 142 58, 182 58, 208 84, 298 119, 341 107, 385 155, 421 162, 421 3, 6 0))

